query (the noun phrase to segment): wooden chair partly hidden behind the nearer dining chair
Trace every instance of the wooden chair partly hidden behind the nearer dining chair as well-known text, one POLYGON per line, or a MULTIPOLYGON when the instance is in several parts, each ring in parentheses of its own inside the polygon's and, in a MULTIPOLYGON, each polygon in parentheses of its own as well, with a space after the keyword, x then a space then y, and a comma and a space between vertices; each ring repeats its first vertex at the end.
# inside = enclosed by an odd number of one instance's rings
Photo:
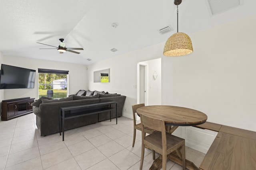
MULTIPOLYGON (((134 143, 135 143, 136 129, 139 130, 139 131, 141 131, 141 123, 136 124, 136 119, 135 119, 135 115, 136 115, 136 113, 137 113, 136 110, 137 110, 138 108, 140 108, 140 107, 143 107, 143 106, 145 106, 144 103, 132 105, 132 114, 133 114, 133 141, 132 141, 132 147, 134 147, 134 143)), ((151 134, 151 133, 153 133, 153 132, 155 132, 155 130, 153 130, 153 129, 150 129, 150 128, 147 128, 147 127, 144 129, 145 135, 146 135, 146 133, 151 134)), ((150 149, 150 148, 149 148, 149 149, 150 149)), ((155 157, 155 152, 154 152, 154 150, 153 150, 152 154, 153 154, 153 160, 155 160, 156 157, 155 157)))

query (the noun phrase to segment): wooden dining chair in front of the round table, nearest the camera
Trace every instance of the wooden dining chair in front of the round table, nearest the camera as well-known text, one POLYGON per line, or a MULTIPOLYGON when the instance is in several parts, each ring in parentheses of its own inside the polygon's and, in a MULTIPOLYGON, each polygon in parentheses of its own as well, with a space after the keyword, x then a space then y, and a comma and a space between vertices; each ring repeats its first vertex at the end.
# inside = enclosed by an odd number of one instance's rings
POLYGON ((140 115, 142 124, 142 150, 140 158, 140 170, 142 170, 145 147, 152 148, 162 155, 162 169, 166 170, 167 155, 176 150, 182 157, 183 170, 186 169, 185 162, 185 139, 166 133, 164 120, 140 115), (145 127, 156 130, 156 132, 145 135, 145 127))

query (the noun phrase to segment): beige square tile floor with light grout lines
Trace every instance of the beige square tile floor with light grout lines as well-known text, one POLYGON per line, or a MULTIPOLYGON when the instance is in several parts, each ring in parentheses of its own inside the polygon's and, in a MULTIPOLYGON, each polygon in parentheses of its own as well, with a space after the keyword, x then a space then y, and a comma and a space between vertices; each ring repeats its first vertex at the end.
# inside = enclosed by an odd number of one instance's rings
MULTIPOLYGON (((138 170, 141 133, 132 147, 133 121, 126 117, 103 121, 41 137, 34 113, 0 121, 0 170, 138 170)), ((186 159, 199 166, 203 153, 186 147, 186 159)), ((151 150, 145 150, 143 169, 152 164, 151 150)), ((172 161, 168 170, 181 170, 172 161)))

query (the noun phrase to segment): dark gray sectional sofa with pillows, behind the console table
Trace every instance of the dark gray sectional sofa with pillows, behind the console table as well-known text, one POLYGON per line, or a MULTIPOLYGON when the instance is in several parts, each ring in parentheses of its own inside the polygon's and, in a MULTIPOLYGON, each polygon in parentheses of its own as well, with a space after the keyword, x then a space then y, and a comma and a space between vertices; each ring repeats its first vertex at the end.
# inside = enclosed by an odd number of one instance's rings
MULTIPOLYGON (((105 92, 90 90, 84 91, 88 91, 88 94, 90 93, 90 96, 86 96, 86 92, 79 96, 81 94, 80 90, 80 93, 78 92, 79 94, 76 93, 74 95, 70 95, 67 98, 52 100, 51 98, 41 97, 36 102, 31 104, 31 106, 33 106, 33 112, 36 115, 36 125, 38 129, 40 129, 41 136, 46 136, 52 133, 59 132, 59 107, 61 106, 75 106, 80 104, 104 101, 116 101, 118 107, 117 115, 118 117, 122 116, 122 110, 126 96, 122 96, 120 94, 106 94, 105 92)), ((116 105, 114 104, 112 107, 116 107, 116 105)), ((116 111, 111 112, 111 117, 116 117, 116 111)), ((107 119, 110 119, 110 112, 86 115, 74 119, 67 119, 65 120, 64 130, 74 129, 107 119)))

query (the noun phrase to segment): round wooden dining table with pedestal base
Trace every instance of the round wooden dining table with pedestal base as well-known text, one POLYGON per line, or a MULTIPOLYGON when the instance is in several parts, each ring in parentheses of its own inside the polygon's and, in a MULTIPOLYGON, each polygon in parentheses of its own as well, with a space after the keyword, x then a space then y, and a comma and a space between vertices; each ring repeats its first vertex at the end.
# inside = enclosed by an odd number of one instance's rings
MULTIPOLYGON (((178 106, 144 106, 137 109, 137 114, 139 116, 143 114, 149 117, 164 120, 166 124, 166 131, 168 133, 174 132, 175 129, 177 129, 179 126, 200 125, 205 123, 207 120, 207 115, 201 111, 178 106)), ((162 160, 160 159, 161 158, 157 158, 153 162, 150 170, 160 169, 162 167, 162 160)), ((169 159, 182 165, 182 160, 176 154, 171 153, 169 155, 169 159)), ((199 170, 199 168, 196 167, 196 165, 194 165, 194 163, 190 162, 189 160, 186 160, 186 168, 189 170, 199 170)))

